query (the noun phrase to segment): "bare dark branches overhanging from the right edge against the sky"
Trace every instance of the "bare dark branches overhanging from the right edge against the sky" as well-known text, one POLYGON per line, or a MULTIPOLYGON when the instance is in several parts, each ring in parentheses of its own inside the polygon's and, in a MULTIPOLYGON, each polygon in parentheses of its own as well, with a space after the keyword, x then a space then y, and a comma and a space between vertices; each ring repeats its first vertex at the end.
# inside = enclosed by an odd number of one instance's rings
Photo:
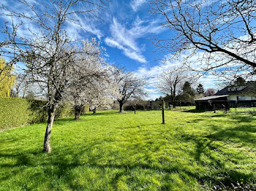
POLYGON ((171 31, 154 44, 173 55, 183 52, 191 69, 233 77, 242 71, 255 74, 256 1, 153 0, 151 12, 163 15, 162 26, 171 31))

